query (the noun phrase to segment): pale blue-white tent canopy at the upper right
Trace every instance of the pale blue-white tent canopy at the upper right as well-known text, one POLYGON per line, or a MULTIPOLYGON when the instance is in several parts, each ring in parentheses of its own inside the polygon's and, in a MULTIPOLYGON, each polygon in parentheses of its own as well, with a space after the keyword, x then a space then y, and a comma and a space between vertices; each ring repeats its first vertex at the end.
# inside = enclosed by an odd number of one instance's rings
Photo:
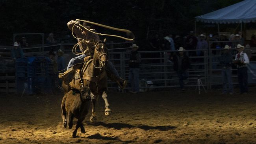
POLYGON ((216 24, 256 22, 256 0, 244 0, 217 11, 195 17, 196 21, 216 24))

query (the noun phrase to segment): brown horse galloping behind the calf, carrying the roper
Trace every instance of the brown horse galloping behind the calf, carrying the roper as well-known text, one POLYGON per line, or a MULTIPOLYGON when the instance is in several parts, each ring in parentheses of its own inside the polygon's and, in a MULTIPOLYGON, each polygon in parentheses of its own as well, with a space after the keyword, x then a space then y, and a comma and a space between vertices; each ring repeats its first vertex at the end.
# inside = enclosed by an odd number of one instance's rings
POLYGON ((111 114, 111 109, 109 109, 109 103, 107 99, 107 74, 106 65, 108 63, 108 48, 106 47, 106 39, 104 42, 98 41, 95 44, 94 55, 92 59, 89 59, 83 66, 82 69, 76 70, 76 73, 80 74, 80 80, 75 78, 69 83, 69 86, 63 83, 63 90, 68 92, 71 88, 81 89, 81 87, 89 87, 91 90, 91 102, 92 102, 92 115, 90 116, 90 121, 95 122, 96 112, 95 104, 99 96, 105 102, 105 115, 111 114))

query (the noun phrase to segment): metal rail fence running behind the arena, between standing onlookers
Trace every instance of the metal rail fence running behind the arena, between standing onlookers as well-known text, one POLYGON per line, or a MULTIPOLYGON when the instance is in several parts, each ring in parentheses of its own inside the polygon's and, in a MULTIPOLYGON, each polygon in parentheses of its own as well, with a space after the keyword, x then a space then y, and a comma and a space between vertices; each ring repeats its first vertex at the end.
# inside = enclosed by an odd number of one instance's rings
MULTIPOLYGON (((215 43, 221 44, 229 41, 217 41, 215 43)), ((235 41, 237 42, 237 41, 235 41)), ((209 50, 202 50, 202 56, 190 56, 191 66, 188 70, 189 78, 185 81, 186 87, 197 86, 197 76, 200 75, 202 83, 206 88, 211 89, 213 85, 222 85, 221 81, 221 67, 219 66, 219 57, 222 49, 211 48, 214 42, 209 42, 209 50)), ((72 48, 75 43, 60 43, 56 45, 37 45, 31 48, 23 48, 26 56, 47 56, 48 51, 57 51, 61 49, 65 52, 65 58, 68 61, 75 57, 72 54, 72 48)), ((109 61, 111 61, 122 78, 128 79, 129 75, 129 55, 131 42, 124 43, 108 43, 109 61), (125 51, 125 52, 124 52, 125 51)), ((2 47, 2 46, 1 46, 2 47)), ((10 48, 0 48, 0 53, 9 53, 6 50, 10 48)), ((235 48, 232 48, 232 54, 236 54, 235 48)), ((186 55, 195 54, 197 50, 186 50, 186 55)), ((179 87, 178 76, 173 70, 173 63, 169 60, 169 55, 175 53, 174 51, 143 51, 139 52, 142 57, 140 64, 140 89, 141 90, 155 90, 170 87, 179 87)), ((256 48, 247 48, 246 53, 253 59, 256 58, 256 48)), ((253 63, 252 63, 253 64, 253 63)), ((255 66, 256 67, 256 66, 255 66)), ((249 70, 249 76, 256 79, 256 68, 249 70)), ((236 67, 233 67, 233 81, 237 84, 236 67)), ((109 89, 119 89, 115 82, 109 81, 109 89)), ((128 86, 126 88, 130 89, 128 86)))

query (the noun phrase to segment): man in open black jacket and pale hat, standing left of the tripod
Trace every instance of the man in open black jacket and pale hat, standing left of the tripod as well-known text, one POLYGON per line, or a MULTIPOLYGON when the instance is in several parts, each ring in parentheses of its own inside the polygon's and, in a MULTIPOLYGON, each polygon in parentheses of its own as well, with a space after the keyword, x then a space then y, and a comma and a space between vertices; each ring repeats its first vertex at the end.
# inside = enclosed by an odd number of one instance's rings
POLYGON ((184 54, 184 51, 184 48, 180 47, 178 49, 178 54, 170 57, 170 60, 173 61, 173 70, 176 71, 179 77, 180 88, 182 91, 185 90, 183 80, 188 78, 187 69, 190 66, 189 57, 184 54))

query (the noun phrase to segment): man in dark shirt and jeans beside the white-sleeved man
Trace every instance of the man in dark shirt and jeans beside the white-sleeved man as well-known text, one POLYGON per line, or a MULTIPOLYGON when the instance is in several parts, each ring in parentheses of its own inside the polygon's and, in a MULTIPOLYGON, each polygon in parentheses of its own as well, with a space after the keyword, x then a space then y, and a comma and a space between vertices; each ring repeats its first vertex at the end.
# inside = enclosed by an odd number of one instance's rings
POLYGON ((223 84, 223 94, 233 94, 233 83, 232 83, 232 61, 233 56, 230 53, 230 46, 225 45, 223 53, 219 59, 221 64, 221 76, 223 84))

